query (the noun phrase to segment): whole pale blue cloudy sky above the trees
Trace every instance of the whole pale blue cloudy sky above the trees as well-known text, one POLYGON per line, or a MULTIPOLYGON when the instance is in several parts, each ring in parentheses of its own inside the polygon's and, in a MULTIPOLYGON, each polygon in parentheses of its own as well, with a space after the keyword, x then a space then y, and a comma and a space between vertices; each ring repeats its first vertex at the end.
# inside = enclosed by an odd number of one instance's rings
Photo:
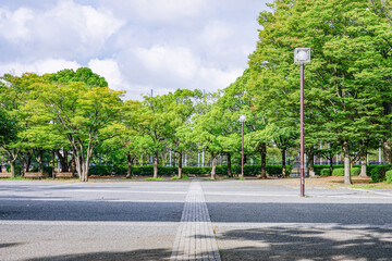
POLYGON ((272 0, 1 0, 0 74, 88 66, 125 99, 216 91, 247 66, 272 0))

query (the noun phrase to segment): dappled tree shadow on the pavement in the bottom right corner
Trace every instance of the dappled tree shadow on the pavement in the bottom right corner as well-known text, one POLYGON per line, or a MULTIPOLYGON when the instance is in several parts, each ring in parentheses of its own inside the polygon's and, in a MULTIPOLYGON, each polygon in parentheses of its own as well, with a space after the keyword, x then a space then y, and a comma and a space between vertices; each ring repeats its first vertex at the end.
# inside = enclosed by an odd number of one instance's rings
POLYGON ((226 231, 217 238, 225 261, 392 260, 390 229, 268 227, 226 231))

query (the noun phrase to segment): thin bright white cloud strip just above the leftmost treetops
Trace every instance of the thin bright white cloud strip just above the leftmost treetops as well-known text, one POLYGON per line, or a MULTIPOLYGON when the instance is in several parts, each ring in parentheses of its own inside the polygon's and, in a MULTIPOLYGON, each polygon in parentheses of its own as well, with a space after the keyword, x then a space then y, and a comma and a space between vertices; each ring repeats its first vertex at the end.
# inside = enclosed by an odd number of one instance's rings
POLYGON ((36 73, 41 75, 46 73, 56 73, 63 69, 77 70, 78 67, 81 67, 81 64, 76 61, 65 61, 62 59, 46 59, 38 60, 34 63, 0 63, 0 74, 2 75, 5 73, 10 73, 13 75, 22 75, 23 73, 36 73))

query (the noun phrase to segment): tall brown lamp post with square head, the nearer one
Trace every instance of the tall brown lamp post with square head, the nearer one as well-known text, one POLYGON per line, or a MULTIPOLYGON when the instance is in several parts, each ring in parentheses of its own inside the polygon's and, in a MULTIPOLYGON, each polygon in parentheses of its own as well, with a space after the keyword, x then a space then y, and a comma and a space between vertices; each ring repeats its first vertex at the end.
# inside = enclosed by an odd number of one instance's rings
POLYGON ((310 62, 310 48, 295 48, 294 63, 301 64, 301 197, 305 197, 304 64, 308 62, 310 62))

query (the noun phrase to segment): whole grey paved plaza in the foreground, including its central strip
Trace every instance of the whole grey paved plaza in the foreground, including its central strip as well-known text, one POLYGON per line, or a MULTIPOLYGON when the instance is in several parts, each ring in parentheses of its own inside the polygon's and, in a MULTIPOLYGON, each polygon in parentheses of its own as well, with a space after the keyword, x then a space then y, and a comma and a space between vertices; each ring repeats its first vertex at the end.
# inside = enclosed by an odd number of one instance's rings
POLYGON ((392 260, 392 190, 0 181, 1 260, 392 260))

